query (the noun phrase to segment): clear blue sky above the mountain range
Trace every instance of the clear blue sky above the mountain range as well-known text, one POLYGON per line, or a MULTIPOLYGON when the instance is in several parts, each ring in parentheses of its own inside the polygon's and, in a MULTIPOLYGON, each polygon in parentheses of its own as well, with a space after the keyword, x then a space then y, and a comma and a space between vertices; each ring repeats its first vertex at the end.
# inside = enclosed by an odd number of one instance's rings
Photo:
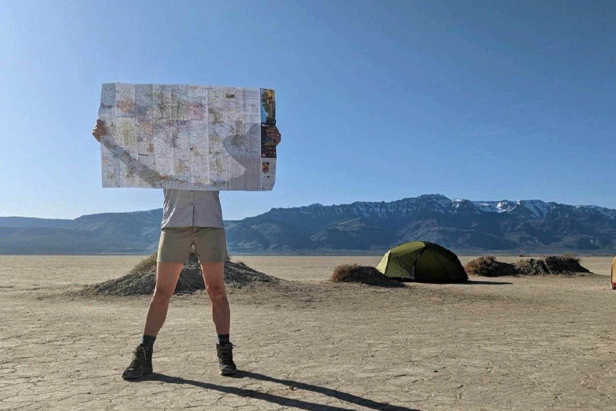
POLYGON ((0 216, 159 208, 101 188, 100 85, 274 88, 272 207, 440 193, 616 209, 616 1, 0 2, 0 216))

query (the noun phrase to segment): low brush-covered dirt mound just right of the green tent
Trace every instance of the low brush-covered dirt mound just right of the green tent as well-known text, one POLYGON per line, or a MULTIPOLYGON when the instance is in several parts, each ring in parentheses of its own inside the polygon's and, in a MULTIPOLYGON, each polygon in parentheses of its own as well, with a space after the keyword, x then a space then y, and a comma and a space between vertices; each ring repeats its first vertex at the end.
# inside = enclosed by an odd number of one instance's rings
POLYGON ((469 275, 505 276, 505 275, 573 275, 590 273, 580 265, 580 259, 568 255, 546 255, 545 257, 519 260, 513 264, 496 261, 495 257, 479 257, 464 266, 469 275))

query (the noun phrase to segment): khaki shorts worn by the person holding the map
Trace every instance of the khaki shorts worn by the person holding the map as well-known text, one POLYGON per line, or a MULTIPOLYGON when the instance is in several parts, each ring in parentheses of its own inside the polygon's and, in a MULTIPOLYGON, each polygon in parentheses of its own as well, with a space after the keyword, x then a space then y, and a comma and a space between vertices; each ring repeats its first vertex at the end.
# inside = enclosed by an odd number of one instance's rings
POLYGON ((158 241, 156 262, 188 262, 190 248, 195 246, 199 262, 225 262, 227 238, 224 228, 167 227, 158 241))

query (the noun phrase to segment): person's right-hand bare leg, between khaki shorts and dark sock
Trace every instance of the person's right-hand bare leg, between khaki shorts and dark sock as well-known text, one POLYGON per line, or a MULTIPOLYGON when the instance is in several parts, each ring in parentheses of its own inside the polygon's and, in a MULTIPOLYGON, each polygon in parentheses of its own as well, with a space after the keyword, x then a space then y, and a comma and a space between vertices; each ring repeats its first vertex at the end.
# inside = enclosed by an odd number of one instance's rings
POLYGON ((227 300, 227 291, 223 280, 224 270, 224 262, 201 264, 203 281, 205 281, 205 289, 212 305, 212 320, 217 334, 229 334, 231 319, 229 300, 227 300))

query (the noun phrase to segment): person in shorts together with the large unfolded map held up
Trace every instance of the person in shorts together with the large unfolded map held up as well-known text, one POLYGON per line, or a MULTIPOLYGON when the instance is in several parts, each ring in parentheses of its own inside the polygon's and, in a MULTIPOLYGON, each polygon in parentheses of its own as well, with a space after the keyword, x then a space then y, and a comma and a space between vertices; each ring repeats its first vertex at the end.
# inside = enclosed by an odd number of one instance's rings
POLYGON ((234 374, 219 190, 274 186, 281 140, 274 90, 113 83, 103 85, 99 117, 92 135, 101 143, 103 186, 164 194, 156 286, 142 341, 122 377, 152 373, 153 344, 192 247, 211 302, 219 373, 234 374))

